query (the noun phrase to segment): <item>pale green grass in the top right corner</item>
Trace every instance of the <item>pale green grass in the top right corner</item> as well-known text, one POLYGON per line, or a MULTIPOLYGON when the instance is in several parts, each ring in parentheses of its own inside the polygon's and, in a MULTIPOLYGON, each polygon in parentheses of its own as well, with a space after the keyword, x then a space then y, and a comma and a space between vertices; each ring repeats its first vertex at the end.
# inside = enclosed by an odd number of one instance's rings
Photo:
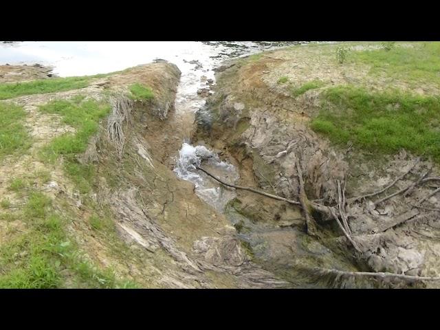
POLYGON ((351 52, 350 61, 371 65, 371 74, 399 78, 408 83, 440 85, 440 42, 412 43, 402 47, 398 43, 390 50, 362 50, 351 52))

